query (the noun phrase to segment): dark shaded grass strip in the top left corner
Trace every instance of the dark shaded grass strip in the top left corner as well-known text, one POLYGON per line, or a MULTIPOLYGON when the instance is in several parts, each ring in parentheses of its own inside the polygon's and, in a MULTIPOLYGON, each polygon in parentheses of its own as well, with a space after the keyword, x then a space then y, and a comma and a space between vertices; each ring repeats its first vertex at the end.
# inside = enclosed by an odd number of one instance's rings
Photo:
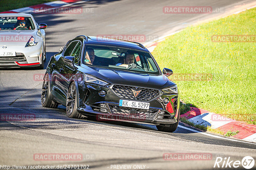
POLYGON ((15 10, 37 4, 44 4, 57 0, 1 0, 0 12, 15 10))

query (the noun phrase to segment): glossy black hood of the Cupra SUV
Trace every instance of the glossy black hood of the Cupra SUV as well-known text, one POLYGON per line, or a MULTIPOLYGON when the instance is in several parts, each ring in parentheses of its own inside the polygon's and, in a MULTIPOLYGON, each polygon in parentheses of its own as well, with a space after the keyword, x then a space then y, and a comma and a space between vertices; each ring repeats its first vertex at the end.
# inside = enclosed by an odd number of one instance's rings
MULTIPOLYGON (((143 86, 155 89, 163 89, 168 86, 175 85, 174 82, 170 81, 163 74, 147 74, 147 73, 138 73, 126 70, 115 70, 115 69, 106 69, 99 67, 87 67, 94 77, 98 77, 101 80, 107 81, 111 84, 125 84, 132 86, 143 86)), ((88 73, 88 71, 85 73, 88 73)))

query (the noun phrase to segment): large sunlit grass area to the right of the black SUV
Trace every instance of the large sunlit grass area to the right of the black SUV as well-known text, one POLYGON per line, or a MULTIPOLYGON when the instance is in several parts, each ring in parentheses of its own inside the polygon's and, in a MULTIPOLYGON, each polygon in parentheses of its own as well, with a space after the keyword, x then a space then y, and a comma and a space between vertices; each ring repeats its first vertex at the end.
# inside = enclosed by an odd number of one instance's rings
MULTIPOLYGON (((153 56, 174 74, 209 74, 211 81, 177 81, 185 103, 256 124, 256 50, 253 42, 212 42, 212 35, 256 35, 256 9, 188 27, 161 42, 153 56)), ((176 79, 176 80, 175 80, 176 79)))

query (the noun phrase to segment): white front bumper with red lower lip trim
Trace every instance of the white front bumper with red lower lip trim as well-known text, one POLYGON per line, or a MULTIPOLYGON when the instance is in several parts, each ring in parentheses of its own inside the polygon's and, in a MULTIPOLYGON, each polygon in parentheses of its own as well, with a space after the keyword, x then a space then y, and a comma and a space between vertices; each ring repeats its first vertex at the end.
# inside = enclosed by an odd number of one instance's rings
POLYGON ((0 67, 35 67, 42 64, 42 43, 36 46, 7 46, 3 49, 0 46, 0 52, 15 51, 16 56, 0 56, 0 67))

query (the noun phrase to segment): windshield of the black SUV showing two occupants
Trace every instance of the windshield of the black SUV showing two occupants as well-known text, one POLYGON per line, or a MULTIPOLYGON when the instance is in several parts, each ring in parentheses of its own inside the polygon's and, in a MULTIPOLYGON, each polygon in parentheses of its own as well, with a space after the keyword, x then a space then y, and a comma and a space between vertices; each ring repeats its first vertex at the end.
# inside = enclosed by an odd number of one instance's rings
POLYGON ((84 50, 83 64, 159 74, 158 67, 150 53, 120 47, 87 45, 84 50))

